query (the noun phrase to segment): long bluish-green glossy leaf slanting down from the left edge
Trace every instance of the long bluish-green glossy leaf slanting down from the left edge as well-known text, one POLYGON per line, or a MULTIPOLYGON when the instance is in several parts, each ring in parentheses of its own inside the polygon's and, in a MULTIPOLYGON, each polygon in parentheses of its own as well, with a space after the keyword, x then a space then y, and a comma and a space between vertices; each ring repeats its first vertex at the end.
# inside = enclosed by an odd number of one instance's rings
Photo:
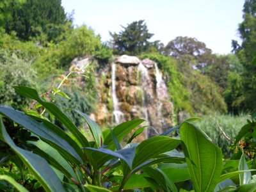
MULTIPOLYGON (((29 131, 34 134, 40 136, 42 140, 45 140, 51 143, 51 146, 56 148, 63 156, 67 157, 71 162, 79 165, 82 163, 81 157, 77 154, 76 150, 70 145, 66 140, 68 135, 63 132, 60 128, 56 128, 54 126, 49 129, 45 127, 44 124, 33 120, 29 116, 25 115, 20 111, 16 111, 11 108, 3 108, 0 106, 0 113, 8 116, 8 118, 12 119, 17 124, 22 125, 29 131), (54 128, 54 129, 53 129, 54 128), (61 136, 63 138, 61 138, 61 136), (65 139, 64 139, 65 138, 65 139)), ((43 119, 41 119, 43 120, 43 119)), ((45 120, 43 120, 45 121, 45 120)), ((47 122, 47 121, 45 121, 47 122)), ((51 123, 49 123, 51 124, 51 123)), ((71 140, 71 138, 69 138, 71 140)), ((74 142, 73 142, 74 143, 74 142)), ((74 145, 76 147, 76 144, 74 145)))

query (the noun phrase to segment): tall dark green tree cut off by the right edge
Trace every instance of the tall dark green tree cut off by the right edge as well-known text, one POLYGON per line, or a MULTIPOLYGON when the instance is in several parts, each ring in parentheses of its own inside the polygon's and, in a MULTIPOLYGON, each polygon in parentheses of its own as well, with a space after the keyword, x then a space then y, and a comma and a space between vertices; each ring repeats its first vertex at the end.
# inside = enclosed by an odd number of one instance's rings
POLYGON ((241 110, 256 109, 256 1, 246 0, 243 8, 243 22, 239 24, 238 32, 241 45, 232 41, 233 51, 236 52, 244 71, 242 74, 243 88, 234 102, 239 101, 241 110))

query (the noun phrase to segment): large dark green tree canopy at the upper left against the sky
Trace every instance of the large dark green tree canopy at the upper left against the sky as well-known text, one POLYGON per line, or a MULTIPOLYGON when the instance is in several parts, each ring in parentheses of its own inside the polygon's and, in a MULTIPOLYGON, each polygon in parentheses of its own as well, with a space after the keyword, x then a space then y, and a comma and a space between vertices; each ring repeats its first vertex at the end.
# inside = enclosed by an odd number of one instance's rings
POLYGON ((10 0, 8 7, 12 9, 9 9, 10 17, 4 28, 6 33, 15 31, 21 40, 45 35, 45 40, 54 41, 61 33, 61 26, 67 22, 61 0, 26 0, 22 4, 10 0))

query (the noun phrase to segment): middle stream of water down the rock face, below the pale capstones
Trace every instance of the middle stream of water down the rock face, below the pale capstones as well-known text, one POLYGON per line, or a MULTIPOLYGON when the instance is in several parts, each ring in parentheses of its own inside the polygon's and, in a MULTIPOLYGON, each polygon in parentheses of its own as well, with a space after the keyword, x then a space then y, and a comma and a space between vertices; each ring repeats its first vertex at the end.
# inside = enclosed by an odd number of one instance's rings
MULTIPOLYGON (((138 74, 137 74, 137 79, 140 82, 140 86, 142 88, 142 109, 143 109, 143 115, 145 120, 147 121, 147 125, 150 125, 150 121, 148 119, 148 109, 147 109, 147 105, 148 102, 150 101, 150 88, 151 88, 151 84, 150 84, 150 77, 148 76, 148 70, 147 68, 140 63, 138 65, 138 74)), ((145 129, 145 138, 148 138, 148 131, 147 128, 145 129)))

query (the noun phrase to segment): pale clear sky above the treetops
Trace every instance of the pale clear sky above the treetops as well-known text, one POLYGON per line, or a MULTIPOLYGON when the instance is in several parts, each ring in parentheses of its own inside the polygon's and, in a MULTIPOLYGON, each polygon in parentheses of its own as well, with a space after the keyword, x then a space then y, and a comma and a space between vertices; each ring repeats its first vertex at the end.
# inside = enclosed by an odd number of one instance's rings
POLYGON ((214 53, 227 54, 231 40, 239 40, 238 24, 243 21, 244 0, 62 0, 65 12, 74 10, 74 24, 90 26, 102 41, 109 31, 145 20, 150 41, 166 45, 177 36, 195 37, 214 53))

